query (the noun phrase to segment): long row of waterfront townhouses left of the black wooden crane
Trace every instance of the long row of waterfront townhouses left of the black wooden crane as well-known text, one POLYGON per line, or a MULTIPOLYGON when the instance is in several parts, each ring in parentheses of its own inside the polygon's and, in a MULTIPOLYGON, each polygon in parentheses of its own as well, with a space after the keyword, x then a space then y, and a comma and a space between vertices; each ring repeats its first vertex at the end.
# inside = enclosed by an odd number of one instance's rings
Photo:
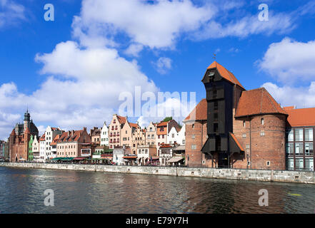
POLYGON ((185 125, 181 127, 175 120, 151 122, 146 128, 141 128, 138 123, 130 123, 127 117, 114 114, 109 126, 104 122, 102 128, 94 127, 89 133, 86 128, 64 131, 48 126, 41 136, 32 124, 26 112, 24 125, 20 127, 18 124, 12 131, 10 142, 15 153, 12 153, 11 161, 93 158, 94 152, 103 153, 106 147, 109 150, 124 147, 131 155, 127 157, 137 158, 133 164, 146 164, 149 159, 159 160, 161 145, 185 144, 185 125))

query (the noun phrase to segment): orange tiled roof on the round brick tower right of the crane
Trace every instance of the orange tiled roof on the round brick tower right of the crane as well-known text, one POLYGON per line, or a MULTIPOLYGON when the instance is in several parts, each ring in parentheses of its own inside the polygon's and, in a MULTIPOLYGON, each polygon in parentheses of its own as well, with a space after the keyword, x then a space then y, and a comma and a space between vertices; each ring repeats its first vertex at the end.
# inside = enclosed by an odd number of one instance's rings
POLYGON ((256 88, 241 93, 235 117, 276 113, 288 115, 279 103, 276 103, 266 88, 256 88))

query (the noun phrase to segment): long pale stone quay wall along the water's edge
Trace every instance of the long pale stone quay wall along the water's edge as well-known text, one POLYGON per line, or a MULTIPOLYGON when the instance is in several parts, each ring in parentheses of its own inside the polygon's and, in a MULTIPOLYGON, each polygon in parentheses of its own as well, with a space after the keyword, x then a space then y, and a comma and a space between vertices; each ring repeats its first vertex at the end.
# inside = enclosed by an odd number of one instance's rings
POLYGON ((77 165, 54 163, 0 162, 2 167, 31 169, 75 170, 89 172, 117 172, 142 175, 169 175, 174 177, 206 177, 230 180, 254 180, 265 182, 291 182, 315 184, 312 171, 289 170, 242 170, 217 169, 203 167, 154 167, 154 166, 119 166, 119 165, 77 165))

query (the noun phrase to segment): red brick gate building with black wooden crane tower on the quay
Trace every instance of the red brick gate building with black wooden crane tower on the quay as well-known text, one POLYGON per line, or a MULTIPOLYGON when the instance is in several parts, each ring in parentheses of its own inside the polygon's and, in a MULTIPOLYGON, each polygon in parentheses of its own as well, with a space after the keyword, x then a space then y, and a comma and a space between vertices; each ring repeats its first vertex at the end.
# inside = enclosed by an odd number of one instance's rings
MULTIPOLYGON (((287 111, 265 88, 245 90, 219 63, 207 68, 202 82, 206 99, 184 120, 186 165, 285 170, 287 111)), ((315 120, 315 115, 312 118, 315 120)), ((315 121, 309 125, 314 126, 315 121)), ((307 133, 314 134, 314 130, 307 133)), ((304 143, 305 147, 304 167, 314 163, 305 161, 314 155, 312 145, 304 143)))

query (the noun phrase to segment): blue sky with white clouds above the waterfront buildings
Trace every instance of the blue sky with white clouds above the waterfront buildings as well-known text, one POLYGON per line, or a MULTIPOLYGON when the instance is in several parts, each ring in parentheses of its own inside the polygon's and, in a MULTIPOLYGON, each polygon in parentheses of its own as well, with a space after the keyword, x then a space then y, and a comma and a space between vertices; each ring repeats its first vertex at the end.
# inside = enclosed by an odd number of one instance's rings
POLYGON ((314 12, 315 1, 293 0, 0 0, 0 138, 26 106, 41 131, 109 123, 134 86, 196 92, 199 102, 214 53, 247 90, 315 107, 314 12), (46 3, 54 21, 44 20, 46 3), (259 21, 260 4, 269 21, 259 21))

